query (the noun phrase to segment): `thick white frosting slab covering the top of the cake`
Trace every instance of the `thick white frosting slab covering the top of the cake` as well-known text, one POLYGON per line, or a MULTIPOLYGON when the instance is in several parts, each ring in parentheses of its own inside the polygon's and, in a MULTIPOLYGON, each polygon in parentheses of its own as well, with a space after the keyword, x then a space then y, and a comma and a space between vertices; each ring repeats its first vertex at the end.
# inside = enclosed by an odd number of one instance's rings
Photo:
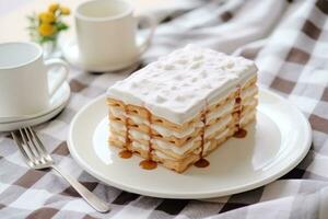
POLYGON ((107 95, 183 124, 256 71, 248 59, 188 45, 115 83, 107 95))

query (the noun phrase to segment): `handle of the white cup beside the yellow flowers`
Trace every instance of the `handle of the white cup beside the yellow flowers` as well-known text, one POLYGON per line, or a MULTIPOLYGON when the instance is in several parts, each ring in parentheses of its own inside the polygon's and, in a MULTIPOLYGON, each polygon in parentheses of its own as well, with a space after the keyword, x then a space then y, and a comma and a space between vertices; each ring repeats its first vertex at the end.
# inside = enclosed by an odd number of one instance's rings
POLYGON ((144 21, 148 24, 149 28, 150 28, 148 36, 143 39, 143 42, 141 44, 138 45, 139 55, 142 55, 149 48, 149 46, 151 45, 151 41, 154 36, 155 28, 157 26, 157 21, 151 14, 138 15, 136 19, 137 19, 138 23, 140 23, 141 21, 144 21))

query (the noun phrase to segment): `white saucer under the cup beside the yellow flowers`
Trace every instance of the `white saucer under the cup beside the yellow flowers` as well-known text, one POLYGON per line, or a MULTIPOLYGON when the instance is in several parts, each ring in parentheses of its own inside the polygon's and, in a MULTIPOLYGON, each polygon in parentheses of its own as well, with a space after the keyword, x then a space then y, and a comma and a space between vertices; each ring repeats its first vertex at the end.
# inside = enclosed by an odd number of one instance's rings
POLYGON ((120 71, 124 69, 132 68, 137 64, 138 64, 137 67, 139 66, 139 57, 136 60, 132 60, 131 62, 124 64, 124 65, 118 64, 116 66, 113 65, 86 66, 80 60, 80 51, 79 51, 79 46, 75 37, 70 37, 69 39, 66 39, 65 42, 60 43, 60 48, 62 51, 62 56, 69 64, 78 68, 84 69, 86 71, 92 71, 92 72, 120 71))

